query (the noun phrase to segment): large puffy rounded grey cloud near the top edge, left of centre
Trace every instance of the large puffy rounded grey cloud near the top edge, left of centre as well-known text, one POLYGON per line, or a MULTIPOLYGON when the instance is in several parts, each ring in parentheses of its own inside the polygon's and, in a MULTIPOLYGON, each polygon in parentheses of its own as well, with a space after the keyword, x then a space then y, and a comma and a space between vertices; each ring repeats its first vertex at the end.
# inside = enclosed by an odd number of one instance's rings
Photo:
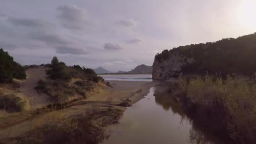
POLYGON ((62 26, 67 29, 81 30, 91 25, 86 10, 78 8, 76 5, 61 5, 57 7, 57 11, 59 12, 57 18, 61 21, 62 26))

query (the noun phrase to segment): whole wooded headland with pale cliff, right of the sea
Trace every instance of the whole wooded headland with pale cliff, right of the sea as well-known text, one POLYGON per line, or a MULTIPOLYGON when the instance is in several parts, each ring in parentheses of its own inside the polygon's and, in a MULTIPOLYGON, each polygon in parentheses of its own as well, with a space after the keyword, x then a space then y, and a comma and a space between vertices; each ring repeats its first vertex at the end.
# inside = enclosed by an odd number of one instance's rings
POLYGON ((186 74, 238 74, 256 72, 256 33, 216 42, 179 46, 155 56, 153 79, 166 80, 186 74))

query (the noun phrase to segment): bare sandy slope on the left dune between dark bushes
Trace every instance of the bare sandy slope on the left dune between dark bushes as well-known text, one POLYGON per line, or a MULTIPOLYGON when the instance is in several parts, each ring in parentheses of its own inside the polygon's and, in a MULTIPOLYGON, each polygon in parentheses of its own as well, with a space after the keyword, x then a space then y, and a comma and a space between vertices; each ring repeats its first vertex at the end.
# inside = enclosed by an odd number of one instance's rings
POLYGON ((20 88, 18 88, 18 91, 27 98, 32 109, 51 104, 46 94, 37 93, 34 89, 41 78, 46 78, 45 70, 45 67, 29 68, 26 70, 27 79, 19 82, 20 88))

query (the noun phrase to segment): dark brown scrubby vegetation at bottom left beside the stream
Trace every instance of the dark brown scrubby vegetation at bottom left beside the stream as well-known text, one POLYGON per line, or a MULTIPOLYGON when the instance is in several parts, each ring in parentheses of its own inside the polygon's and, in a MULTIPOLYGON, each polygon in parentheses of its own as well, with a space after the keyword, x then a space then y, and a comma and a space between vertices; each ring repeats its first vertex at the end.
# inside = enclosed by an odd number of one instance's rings
POLYGON ((105 107, 69 118, 51 119, 47 125, 9 141, 19 144, 98 144, 108 137, 104 127, 118 123, 122 114, 122 110, 105 107))

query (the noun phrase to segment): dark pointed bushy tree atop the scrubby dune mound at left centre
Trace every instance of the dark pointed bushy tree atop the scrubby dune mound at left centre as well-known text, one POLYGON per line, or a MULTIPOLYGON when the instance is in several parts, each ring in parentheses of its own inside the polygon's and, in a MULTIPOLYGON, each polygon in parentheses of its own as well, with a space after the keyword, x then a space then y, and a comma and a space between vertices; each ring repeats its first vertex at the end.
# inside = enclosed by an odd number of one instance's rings
POLYGON ((46 71, 51 79, 70 80, 71 76, 67 72, 67 66, 64 62, 59 62, 56 56, 51 60, 51 69, 46 71))

